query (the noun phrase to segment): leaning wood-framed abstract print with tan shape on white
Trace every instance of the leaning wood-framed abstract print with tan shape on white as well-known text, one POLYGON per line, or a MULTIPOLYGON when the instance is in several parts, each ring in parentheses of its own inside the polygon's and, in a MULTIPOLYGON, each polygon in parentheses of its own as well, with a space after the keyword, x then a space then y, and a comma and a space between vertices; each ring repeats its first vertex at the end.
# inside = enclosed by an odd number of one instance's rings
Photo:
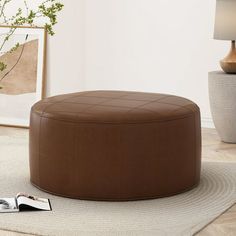
POLYGON ((0 125, 29 127, 30 109, 44 97, 47 32, 44 27, 0 26, 0 45, 9 32, 0 48, 0 63, 6 65, 0 71, 0 125))

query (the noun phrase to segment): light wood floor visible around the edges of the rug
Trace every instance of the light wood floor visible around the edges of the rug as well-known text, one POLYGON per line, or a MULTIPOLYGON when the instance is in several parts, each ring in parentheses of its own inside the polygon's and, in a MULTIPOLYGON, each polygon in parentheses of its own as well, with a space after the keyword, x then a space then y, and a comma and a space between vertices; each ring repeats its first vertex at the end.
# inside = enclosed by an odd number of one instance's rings
MULTIPOLYGON (((28 138, 27 129, 0 126, 0 136, 28 138)), ((214 129, 203 129, 203 158, 209 161, 236 162, 236 144, 222 143, 214 129)), ((236 183, 235 183, 236 184, 236 183)), ((236 205, 204 228, 198 236, 235 236, 236 205)), ((0 236, 29 236, 15 232, 1 231, 0 236)), ((148 236, 148 235, 147 235, 148 236)), ((173 235, 174 236, 174 235, 173 235)))

